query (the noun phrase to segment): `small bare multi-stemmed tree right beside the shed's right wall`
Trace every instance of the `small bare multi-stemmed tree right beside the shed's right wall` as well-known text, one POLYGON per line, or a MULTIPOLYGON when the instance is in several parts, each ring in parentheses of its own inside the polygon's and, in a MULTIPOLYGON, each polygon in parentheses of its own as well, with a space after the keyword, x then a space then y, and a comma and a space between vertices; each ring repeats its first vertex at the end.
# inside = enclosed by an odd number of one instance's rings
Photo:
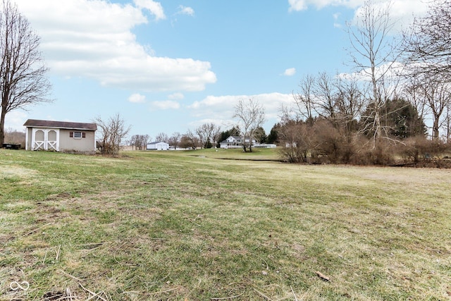
POLYGON ((123 121, 119 113, 110 117, 108 121, 104 121, 98 116, 94 119, 94 122, 99 126, 101 153, 117 155, 121 142, 130 131, 130 126, 125 126, 125 121, 123 121))

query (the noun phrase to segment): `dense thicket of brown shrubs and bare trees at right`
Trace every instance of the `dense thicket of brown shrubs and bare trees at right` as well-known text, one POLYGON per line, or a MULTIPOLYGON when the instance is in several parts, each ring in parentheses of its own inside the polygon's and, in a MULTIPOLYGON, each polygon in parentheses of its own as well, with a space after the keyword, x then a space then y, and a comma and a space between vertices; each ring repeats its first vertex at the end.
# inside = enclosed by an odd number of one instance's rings
POLYGON ((293 93, 294 104, 280 110, 273 130, 285 161, 419 164, 445 152, 450 145, 451 2, 429 5, 426 16, 397 37, 393 3, 365 2, 347 27, 354 73, 307 75, 293 93), (428 127, 426 118, 431 118, 428 127))

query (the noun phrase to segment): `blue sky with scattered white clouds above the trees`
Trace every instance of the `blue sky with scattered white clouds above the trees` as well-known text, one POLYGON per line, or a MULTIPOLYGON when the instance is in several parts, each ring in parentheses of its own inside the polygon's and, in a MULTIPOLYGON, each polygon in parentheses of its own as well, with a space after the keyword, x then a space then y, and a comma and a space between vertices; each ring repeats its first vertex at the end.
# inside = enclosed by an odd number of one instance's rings
MULTIPOLYGON (((385 2, 380 0, 378 2, 385 2)), ((92 122, 120 113, 130 135, 233 126, 239 99, 257 99, 268 133, 304 75, 352 72, 345 23, 360 0, 16 0, 42 37, 51 104, 6 116, 92 122)), ((393 1, 421 16, 421 0, 393 1)))

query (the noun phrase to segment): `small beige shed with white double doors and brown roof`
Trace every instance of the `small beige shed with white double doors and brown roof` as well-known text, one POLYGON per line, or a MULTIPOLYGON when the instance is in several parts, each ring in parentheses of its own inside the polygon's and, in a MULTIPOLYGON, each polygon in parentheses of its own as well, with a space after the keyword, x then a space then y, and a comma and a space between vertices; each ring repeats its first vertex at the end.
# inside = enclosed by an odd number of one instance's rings
POLYGON ((28 119, 25 149, 75 154, 96 153, 96 123, 28 119))

